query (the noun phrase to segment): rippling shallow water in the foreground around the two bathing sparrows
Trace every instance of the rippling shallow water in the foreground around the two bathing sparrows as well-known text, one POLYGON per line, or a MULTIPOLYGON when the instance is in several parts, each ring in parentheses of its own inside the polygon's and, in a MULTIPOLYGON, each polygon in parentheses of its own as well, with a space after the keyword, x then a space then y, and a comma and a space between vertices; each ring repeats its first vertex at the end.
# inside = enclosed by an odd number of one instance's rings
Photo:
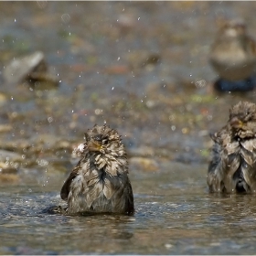
POLYGON ((205 168, 170 164, 151 175, 132 174, 133 217, 49 215, 42 209, 63 205, 56 185, 5 187, 1 253, 254 253, 255 197, 208 195, 205 168))

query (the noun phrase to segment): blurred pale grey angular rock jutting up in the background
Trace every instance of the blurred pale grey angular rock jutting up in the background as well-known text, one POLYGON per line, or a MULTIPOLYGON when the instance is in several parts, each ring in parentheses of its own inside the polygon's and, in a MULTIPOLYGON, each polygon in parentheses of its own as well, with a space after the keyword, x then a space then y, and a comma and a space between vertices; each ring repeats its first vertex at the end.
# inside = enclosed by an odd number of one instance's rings
POLYGON ((27 81, 36 89, 56 87, 59 80, 48 73, 45 56, 41 51, 22 58, 13 59, 3 71, 5 81, 17 83, 27 81))

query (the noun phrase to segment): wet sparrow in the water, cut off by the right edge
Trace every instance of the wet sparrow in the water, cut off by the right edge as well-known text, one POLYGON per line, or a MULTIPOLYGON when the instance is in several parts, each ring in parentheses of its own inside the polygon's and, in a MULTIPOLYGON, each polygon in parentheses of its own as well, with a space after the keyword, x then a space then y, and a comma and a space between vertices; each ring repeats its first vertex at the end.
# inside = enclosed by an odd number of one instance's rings
POLYGON ((218 133, 208 165, 210 192, 256 192, 256 104, 240 101, 218 133))

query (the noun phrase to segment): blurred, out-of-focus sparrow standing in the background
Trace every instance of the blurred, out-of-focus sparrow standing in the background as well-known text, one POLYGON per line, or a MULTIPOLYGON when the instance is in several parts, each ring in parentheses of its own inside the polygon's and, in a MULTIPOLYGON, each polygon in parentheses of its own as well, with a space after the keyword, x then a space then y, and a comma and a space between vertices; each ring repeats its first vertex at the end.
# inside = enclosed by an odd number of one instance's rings
POLYGON ((209 63, 219 74, 215 84, 219 91, 253 90, 251 75, 256 64, 256 43, 242 19, 221 22, 210 49, 209 63))

